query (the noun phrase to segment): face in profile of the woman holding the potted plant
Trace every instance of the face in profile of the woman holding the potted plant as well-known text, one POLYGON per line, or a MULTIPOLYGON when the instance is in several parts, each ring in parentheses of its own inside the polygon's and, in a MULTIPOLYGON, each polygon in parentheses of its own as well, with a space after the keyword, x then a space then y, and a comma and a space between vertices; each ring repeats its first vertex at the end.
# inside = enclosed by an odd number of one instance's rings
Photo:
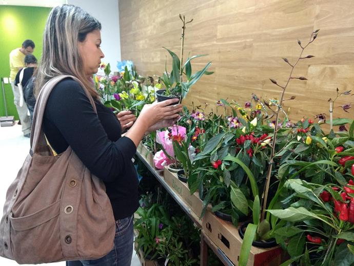
POLYGON ((78 42, 78 51, 83 60, 84 71, 88 76, 97 73, 101 58, 105 55, 101 51, 101 32, 94 30, 87 33, 84 42, 78 42))

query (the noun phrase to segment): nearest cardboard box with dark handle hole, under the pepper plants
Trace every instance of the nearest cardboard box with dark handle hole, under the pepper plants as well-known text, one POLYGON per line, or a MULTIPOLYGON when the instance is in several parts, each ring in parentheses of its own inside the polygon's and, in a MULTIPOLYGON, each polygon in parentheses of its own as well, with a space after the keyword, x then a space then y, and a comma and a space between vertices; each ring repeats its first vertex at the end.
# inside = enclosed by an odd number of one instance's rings
MULTIPOLYGON (((225 253, 233 264, 239 264, 242 238, 237 227, 207 210, 203 217, 203 232, 225 253)), ((280 246, 269 249, 252 246, 247 265, 278 266, 285 260, 285 252, 280 246)))

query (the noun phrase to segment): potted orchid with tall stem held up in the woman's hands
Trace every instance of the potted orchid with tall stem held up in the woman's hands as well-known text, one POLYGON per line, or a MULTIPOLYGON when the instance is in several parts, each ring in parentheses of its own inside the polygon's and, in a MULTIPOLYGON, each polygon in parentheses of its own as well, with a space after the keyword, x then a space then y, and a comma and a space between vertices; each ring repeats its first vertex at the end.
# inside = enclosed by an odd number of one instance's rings
POLYGON ((181 14, 180 18, 183 23, 181 37, 181 60, 174 52, 164 47, 172 57, 172 71, 171 73, 168 73, 167 69, 165 69, 165 72, 160 78, 161 82, 164 84, 166 89, 156 91, 156 97, 158 99, 158 102, 165 101, 171 98, 179 98, 181 102, 181 100, 187 96, 190 87, 197 81, 199 81, 203 74, 210 75, 213 73, 207 71, 207 69, 211 65, 211 62, 209 62, 202 70, 192 74, 192 67, 190 63, 191 60, 199 58, 201 56, 205 56, 205 54, 193 55, 191 57, 188 57, 186 62, 183 63, 186 24, 191 23, 193 19, 186 22, 185 16, 183 16, 182 18, 181 14), (185 81, 183 81, 183 74, 185 75, 185 81))

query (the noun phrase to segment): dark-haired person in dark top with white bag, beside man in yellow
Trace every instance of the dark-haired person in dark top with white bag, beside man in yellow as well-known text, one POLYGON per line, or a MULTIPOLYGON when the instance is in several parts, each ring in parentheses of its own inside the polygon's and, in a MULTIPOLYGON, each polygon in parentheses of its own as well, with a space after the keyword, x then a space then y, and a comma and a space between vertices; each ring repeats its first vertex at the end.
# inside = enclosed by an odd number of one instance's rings
POLYGON ((25 56, 25 68, 19 70, 16 74, 15 84, 19 88, 19 92, 21 94, 21 88, 23 91, 23 97, 27 108, 30 112, 30 121, 32 124, 33 121, 33 110, 35 105, 35 97, 33 95, 33 85, 35 77, 33 77, 33 73, 37 68, 37 59, 33 54, 27 54, 25 56), (21 74, 21 72, 23 72, 21 74), (22 76, 22 80, 20 79, 22 76), (21 83, 21 85, 19 85, 21 83))

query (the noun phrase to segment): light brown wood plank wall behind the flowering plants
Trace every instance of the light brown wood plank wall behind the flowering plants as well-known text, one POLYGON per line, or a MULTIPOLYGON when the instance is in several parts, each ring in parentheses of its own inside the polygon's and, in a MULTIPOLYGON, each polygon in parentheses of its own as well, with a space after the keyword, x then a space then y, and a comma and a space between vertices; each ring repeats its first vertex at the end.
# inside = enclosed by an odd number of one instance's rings
MULTIPOLYGON (((336 88, 351 90, 354 85, 354 1, 352 0, 119 0, 122 60, 132 60, 139 73, 161 75, 171 69, 165 46, 180 54, 181 21, 187 25, 185 52, 208 56, 194 61, 192 70, 212 61, 214 74, 204 76, 191 88, 184 104, 209 103, 220 98, 249 101, 251 93, 278 98, 280 88, 269 78, 284 84, 290 67, 300 54, 297 40, 307 42, 312 31, 321 29, 317 40, 293 75, 308 81, 292 80, 285 102, 290 118, 328 115, 329 98, 336 88)), ((193 71, 193 72, 194 72, 193 71)), ((333 117, 353 117, 354 107, 345 113, 339 106, 352 103, 353 96, 338 99, 333 117)))

